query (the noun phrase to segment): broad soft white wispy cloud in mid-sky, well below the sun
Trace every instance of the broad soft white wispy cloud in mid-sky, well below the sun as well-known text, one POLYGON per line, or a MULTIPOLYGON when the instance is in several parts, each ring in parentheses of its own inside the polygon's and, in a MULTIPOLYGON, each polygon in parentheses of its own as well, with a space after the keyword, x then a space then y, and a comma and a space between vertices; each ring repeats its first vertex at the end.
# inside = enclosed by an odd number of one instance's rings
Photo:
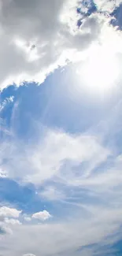
POLYGON ((37 186, 52 178, 63 182, 66 177, 77 176, 80 180, 111 154, 95 136, 69 135, 57 130, 46 131, 34 145, 13 140, 13 144, 8 142, 4 146, 3 143, 2 148, 1 162, 8 155, 7 161, 2 163, 8 177, 37 186))

